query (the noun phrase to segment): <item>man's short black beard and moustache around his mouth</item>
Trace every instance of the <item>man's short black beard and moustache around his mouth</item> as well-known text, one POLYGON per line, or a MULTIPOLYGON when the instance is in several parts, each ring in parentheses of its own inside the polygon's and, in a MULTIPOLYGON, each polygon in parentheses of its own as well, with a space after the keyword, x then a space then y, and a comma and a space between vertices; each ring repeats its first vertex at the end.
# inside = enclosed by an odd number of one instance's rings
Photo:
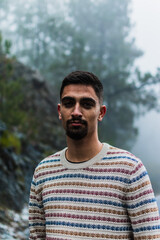
POLYGON ((88 133, 88 124, 85 120, 82 120, 80 118, 74 118, 71 120, 68 120, 66 123, 66 135, 73 140, 81 140, 85 136, 87 136, 88 133), (72 126, 71 123, 80 123, 80 126, 72 126))

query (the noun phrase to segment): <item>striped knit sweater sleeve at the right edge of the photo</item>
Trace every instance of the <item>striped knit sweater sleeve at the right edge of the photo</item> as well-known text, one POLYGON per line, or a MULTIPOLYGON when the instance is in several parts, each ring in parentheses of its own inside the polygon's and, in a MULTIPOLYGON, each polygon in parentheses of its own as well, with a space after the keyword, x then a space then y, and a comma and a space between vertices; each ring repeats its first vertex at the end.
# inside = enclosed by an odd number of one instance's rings
POLYGON ((134 239, 160 239, 159 211, 148 173, 141 161, 130 172, 126 200, 134 239))

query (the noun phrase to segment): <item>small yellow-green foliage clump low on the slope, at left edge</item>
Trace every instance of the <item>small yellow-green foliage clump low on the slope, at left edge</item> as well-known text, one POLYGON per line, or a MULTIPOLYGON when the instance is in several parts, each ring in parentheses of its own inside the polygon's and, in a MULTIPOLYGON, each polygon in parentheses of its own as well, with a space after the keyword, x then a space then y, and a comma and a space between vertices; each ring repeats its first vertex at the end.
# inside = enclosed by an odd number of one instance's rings
POLYGON ((0 137, 0 145, 4 148, 13 148, 17 154, 21 153, 21 141, 7 130, 0 137))

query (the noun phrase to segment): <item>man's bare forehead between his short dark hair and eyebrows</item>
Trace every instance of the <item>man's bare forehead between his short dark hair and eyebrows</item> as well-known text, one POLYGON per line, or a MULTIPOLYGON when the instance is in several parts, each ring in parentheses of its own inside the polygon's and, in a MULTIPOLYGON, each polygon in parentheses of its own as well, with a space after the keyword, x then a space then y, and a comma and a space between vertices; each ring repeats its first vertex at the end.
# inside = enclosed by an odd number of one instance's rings
POLYGON ((96 102, 98 97, 92 86, 82 84, 70 84, 64 87, 61 98, 73 97, 73 98, 93 98, 96 102))

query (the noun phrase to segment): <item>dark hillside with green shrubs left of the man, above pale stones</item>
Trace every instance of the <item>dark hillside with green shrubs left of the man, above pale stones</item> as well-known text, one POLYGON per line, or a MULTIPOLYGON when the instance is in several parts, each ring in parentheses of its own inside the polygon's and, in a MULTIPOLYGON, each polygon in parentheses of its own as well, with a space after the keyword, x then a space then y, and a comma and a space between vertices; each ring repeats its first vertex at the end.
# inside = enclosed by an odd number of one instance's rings
MULTIPOLYGON (((21 212, 28 204, 35 166, 62 148, 65 140, 54 89, 38 72, 15 60, 5 59, 0 64, 0 223, 11 226, 14 218, 9 211, 21 212), (18 90, 13 91, 15 86, 18 90), (17 100, 19 93, 23 96, 17 100)), ((0 234, 4 231, 0 225, 0 234)))

